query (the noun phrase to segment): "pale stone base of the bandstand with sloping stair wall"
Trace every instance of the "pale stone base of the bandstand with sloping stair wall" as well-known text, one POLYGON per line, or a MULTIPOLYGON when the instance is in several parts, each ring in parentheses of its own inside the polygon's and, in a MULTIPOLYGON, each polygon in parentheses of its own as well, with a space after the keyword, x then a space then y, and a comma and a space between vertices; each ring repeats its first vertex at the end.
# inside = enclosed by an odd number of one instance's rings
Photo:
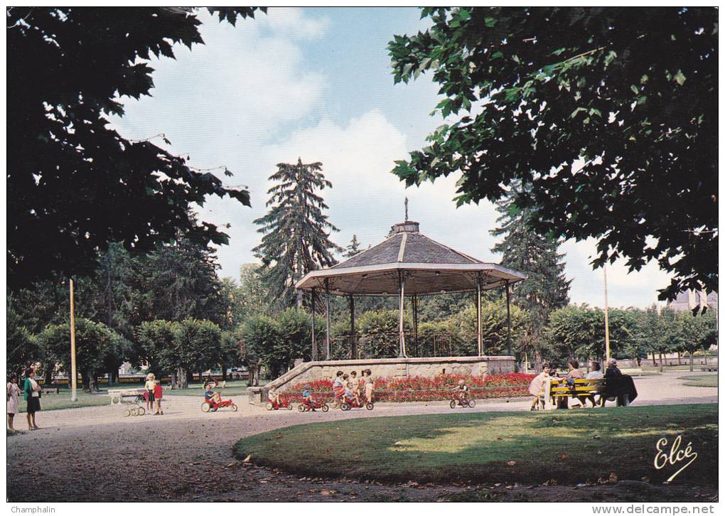
POLYGON ((249 403, 266 403, 267 392, 274 386, 283 392, 299 383, 314 380, 334 380, 337 371, 348 374, 352 371, 370 369, 373 378, 399 378, 423 376, 434 378, 439 375, 484 376, 514 372, 514 357, 428 357, 428 358, 373 358, 358 360, 320 360, 302 362, 265 386, 249 387, 249 403))

